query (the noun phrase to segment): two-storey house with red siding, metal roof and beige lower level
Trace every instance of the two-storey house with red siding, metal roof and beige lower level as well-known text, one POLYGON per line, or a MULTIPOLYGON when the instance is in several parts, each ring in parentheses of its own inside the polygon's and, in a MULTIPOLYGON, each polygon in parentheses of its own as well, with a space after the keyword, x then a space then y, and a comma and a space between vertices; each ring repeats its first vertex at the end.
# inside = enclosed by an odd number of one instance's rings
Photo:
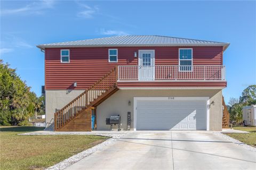
POLYGON ((166 36, 117 36, 42 44, 46 129, 222 128, 223 52, 229 43, 166 36))

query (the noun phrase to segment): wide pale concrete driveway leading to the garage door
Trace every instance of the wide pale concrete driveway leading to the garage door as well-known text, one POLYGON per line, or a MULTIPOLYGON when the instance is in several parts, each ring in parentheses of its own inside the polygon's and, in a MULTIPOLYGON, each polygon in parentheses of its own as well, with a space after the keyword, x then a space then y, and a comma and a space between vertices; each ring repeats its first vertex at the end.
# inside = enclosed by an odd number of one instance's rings
POLYGON ((256 169, 256 152, 207 131, 136 131, 67 169, 256 169))

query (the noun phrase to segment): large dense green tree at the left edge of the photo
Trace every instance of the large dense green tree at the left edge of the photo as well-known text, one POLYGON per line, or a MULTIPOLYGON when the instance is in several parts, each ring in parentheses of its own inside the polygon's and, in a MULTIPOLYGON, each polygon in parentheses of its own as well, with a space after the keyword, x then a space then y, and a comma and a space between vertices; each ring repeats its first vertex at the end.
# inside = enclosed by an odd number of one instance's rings
POLYGON ((26 125, 42 107, 41 101, 9 64, 0 60, 0 124, 26 125))

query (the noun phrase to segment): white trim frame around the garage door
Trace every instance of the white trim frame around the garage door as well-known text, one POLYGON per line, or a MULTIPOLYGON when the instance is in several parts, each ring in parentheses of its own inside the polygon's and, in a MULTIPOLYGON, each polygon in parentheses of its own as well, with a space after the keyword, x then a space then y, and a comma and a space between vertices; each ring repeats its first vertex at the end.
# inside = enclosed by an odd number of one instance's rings
MULTIPOLYGON (((134 97, 133 98, 133 130, 137 128, 138 100, 168 100, 169 97, 134 97)), ((205 100, 206 102, 206 130, 210 130, 210 98, 209 97, 174 97, 172 100, 205 100)))

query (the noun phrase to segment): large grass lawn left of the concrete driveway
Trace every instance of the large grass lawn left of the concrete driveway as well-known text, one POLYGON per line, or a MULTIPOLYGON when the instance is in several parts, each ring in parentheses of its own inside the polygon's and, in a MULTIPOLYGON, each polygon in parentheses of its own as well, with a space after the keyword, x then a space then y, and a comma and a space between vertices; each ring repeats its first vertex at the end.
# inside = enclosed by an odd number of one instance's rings
POLYGON ((43 129, 1 126, 0 169, 45 169, 108 139, 97 135, 17 135, 43 129))

